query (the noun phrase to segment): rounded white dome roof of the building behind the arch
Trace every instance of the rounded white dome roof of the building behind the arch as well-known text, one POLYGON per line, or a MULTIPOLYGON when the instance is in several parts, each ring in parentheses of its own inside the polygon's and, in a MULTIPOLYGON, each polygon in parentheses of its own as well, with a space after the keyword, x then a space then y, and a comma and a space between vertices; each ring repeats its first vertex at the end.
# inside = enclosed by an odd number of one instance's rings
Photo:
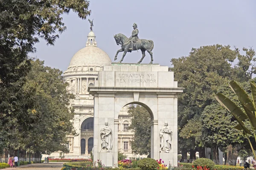
POLYGON ((105 51, 96 46, 87 46, 77 51, 69 67, 111 65, 112 61, 105 51))

